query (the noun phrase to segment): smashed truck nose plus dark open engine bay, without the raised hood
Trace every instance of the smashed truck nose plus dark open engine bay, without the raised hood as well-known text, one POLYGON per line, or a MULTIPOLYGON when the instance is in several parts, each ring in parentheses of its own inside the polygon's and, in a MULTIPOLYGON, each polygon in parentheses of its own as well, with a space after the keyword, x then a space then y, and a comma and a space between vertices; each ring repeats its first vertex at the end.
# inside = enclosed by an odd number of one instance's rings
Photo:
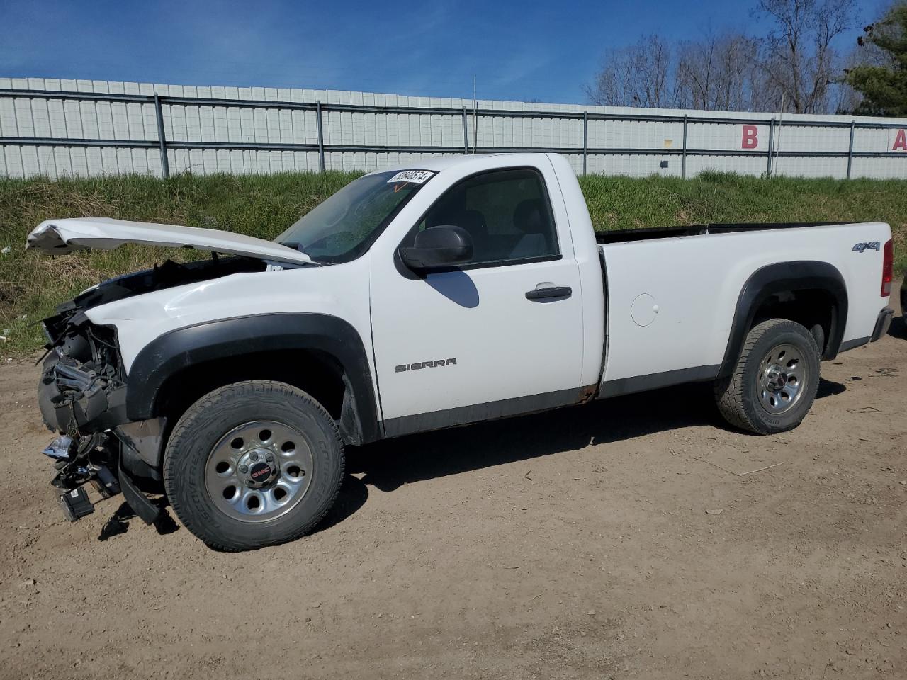
POLYGON ((54 485, 69 494, 75 492, 69 497, 71 501, 66 500, 66 494, 61 499, 70 520, 92 511, 91 503, 81 494, 86 484, 98 481, 104 486, 99 481, 103 469, 119 481, 125 499, 142 520, 151 523, 158 519, 159 510, 139 488, 160 490, 166 427, 164 418, 130 420, 126 410, 128 381, 116 329, 93 323, 86 312, 165 288, 268 267, 261 259, 216 254, 208 260, 187 263, 166 260, 151 269, 88 288, 44 319, 48 352, 38 385, 38 403, 44 423, 62 435, 45 453, 54 458, 57 468, 54 485), (67 508, 67 502, 73 508, 67 508))

